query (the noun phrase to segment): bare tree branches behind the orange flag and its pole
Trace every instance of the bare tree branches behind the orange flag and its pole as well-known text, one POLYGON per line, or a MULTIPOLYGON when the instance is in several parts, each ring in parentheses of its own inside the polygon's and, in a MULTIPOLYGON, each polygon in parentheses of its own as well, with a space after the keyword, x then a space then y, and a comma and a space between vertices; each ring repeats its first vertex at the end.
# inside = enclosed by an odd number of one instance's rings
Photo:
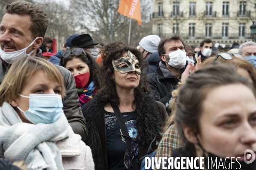
MULTIPOLYGON (((111 0, 70 0, 70 10, 76 14, 76 22, 81 30, 93 37, 95 42, 111 42, 110 24, 111 15, 109 3, 111 0)), ((119 14, 117 9, 120 0, 112 0, 113 10, 113 41, 128 41, 129 18, 119 14)), ((151 24, 145 23, 149 18, 149 0, 140 0, 142 25, 139 26, 136 20, 132 20, 131 42, 139 42, 141 38, 151 34, 151 24)))

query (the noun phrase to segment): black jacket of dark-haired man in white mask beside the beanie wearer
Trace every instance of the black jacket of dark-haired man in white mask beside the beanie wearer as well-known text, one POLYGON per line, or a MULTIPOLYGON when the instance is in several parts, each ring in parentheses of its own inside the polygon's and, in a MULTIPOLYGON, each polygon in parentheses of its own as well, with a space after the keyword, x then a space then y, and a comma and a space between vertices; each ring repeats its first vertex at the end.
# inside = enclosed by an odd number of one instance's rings
MULTIPOLYGON (((183 68, 183 71, 185 68, 186 66, 183 68)), ((168 106, 172 100, 172 91, 177 89, 179 79, 169 71, 162 61, 157 63, 156 72, 148 74, 147 76, 149 78, 149 85, 151 86, 150 95, 155 100, 162 102, 168 112, 168 106)))

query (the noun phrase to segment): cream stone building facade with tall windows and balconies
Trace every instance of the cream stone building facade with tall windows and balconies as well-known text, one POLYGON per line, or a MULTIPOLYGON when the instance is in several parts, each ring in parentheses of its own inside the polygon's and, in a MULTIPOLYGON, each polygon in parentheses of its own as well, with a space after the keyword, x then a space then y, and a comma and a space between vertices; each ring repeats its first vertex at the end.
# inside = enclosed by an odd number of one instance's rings
POLYGON ((255 0, 153 0, 152 32, 180 34, 189 45, 211 38, 227 46, 252 40, 255 0))

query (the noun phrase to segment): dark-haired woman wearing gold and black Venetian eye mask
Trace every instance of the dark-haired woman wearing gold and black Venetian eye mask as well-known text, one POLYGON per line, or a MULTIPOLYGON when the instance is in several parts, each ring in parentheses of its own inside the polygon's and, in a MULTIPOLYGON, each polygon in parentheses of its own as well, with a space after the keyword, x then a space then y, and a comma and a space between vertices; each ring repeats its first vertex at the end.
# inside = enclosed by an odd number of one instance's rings
POLYGON ((102 52, 101 88, 82 108, 89 130, 86 144, 96 170, 137 170, 168 115, 148 95, 147 77, 141 72, 146 63, 139 50, 111 43, 102 52))

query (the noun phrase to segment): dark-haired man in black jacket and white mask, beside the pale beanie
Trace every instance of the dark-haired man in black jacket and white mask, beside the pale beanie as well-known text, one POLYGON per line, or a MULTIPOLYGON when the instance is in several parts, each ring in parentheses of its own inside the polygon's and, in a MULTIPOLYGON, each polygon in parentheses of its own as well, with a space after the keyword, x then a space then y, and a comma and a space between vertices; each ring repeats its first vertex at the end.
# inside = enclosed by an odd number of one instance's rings
POLYGON ((174 35, 160 41, 156 72, 148 74, 151 96, 162 102, 166 111, 172 100, 172 91, 177 87, 181 74, 186 68, 186 52, 180 36, 174 35))

